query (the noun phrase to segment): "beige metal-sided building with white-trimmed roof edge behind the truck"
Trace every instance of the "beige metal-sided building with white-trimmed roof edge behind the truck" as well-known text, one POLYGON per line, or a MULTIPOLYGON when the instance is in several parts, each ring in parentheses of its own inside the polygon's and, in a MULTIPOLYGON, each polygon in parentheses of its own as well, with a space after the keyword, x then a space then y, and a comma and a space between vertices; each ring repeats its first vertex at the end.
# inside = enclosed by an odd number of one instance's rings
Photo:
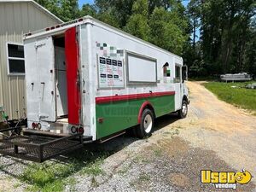
POLYGON ((0 106, 9 119, 24 117, 26 113, 25 75, 9 74, 7 44, 23 44, 23 34, 62 20, 38 3, 29 0, 0 0, 0 106))

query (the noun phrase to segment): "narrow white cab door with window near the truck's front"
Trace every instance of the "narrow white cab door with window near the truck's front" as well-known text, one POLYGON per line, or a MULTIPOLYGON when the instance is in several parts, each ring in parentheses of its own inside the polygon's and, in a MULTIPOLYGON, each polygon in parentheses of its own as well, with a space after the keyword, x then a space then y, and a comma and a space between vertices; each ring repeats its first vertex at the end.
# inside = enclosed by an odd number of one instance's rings
POLYGON ((182 102, 182 77, 181 77, 181 65, 175 64, 175 111, 181 108, 182 102))

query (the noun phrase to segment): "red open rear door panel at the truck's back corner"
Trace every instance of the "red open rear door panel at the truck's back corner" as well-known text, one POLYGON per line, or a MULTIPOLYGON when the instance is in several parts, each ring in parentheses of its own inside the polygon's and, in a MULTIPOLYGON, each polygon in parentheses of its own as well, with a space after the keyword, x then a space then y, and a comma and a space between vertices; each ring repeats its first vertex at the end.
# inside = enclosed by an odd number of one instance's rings
POLYGON ((79 43, 75 26, 65 32, 65 55, 67 62, 68 123, 79 125, 79 113, 81 108, 79 88, 79 43))

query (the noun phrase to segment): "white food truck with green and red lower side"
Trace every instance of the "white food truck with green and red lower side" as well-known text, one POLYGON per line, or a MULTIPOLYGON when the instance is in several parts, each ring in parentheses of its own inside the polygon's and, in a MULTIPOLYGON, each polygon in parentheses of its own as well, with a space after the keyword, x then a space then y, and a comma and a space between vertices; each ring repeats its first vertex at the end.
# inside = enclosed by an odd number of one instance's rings
MULTIPOLYGON (((24 49, 30 138, 103 142, 127 129, 143 138, 155 118, 187 115, 182 57, 90 16, 28 33, 24 49)), ((38 161, 46 160, 40 150, 38 161)))

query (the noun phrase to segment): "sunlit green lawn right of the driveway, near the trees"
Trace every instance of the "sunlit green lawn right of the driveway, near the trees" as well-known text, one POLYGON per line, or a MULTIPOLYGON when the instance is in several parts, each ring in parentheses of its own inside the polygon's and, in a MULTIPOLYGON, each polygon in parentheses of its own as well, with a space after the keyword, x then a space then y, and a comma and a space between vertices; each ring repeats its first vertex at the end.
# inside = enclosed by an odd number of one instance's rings
POLYGON ((224 102, 252 111, 256 115, 256 90, 244 88, 245 85, 252 83, 209 82, 204 86, 224 102), (236 88, 232 88, 232 86, 236 86, 236 88))

